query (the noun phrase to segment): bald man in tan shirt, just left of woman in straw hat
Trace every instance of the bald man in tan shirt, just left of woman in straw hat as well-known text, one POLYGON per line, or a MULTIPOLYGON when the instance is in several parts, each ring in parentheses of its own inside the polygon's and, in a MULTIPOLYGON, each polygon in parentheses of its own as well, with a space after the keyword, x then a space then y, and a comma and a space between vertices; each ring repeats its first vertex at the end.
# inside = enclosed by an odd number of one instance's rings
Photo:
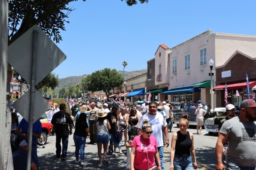
POLYGON ((92 112, 90 113, 90 117, 89 117, 90 142, 88 144, 97 145, 97 143, 95 141, 96 137, 95 137, 95 134, 94 134, 94 123, 96 121, 96 112, 98 111, 98 108, 95 107, 95 103, 94 102, 91 102, 90 106, 92 108, 92 112))

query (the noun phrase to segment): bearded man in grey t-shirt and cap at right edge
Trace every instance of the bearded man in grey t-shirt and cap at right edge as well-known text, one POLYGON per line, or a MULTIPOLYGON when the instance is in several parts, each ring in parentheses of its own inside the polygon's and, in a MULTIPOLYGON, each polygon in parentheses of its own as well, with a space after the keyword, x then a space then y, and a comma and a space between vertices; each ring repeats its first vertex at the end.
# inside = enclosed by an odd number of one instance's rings
POLYGON ((216 170, 225 170, 222 164, 223 145, 228 139, 227 170, 256 170, 256 102, 246 99, 240 105, 240 115, 225 121, 215 147, 216 170))

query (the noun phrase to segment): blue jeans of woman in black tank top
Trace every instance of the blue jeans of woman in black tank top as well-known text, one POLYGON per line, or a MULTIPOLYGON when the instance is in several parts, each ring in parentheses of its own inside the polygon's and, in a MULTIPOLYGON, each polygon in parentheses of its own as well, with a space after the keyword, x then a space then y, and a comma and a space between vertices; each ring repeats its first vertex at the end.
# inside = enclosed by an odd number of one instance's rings
POLYGON ((191 155, 188 158, 181 158, 178 155, 174 155, 173 160, 174 170, 192 170, 192 158, 191 155))

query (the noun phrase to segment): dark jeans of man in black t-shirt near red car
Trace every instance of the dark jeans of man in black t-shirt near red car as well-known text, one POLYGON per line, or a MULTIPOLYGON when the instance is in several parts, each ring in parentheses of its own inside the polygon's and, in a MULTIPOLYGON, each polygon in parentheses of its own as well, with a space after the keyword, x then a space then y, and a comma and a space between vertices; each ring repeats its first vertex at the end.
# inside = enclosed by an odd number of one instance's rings
POLYGON ((67 150, 68 150, 68 136, 59 136, 56 135, 56 156, 60 157, 60 152, 61 152, 61 145, 60 141, 62 140, 62 158, 67 157, 67 150))

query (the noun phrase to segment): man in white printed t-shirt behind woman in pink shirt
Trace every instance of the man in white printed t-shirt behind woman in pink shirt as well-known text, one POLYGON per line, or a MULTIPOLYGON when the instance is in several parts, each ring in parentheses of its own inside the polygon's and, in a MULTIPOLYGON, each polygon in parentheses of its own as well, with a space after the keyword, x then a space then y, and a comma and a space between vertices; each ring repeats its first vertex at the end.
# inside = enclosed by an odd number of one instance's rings
MULTIPOLYGON (((169 146, 169 136, 168 136, 168 129, 166 127, 166 121, 164 119, 164 115, 157 112, 156 102, 150 102, 149 113, 142 115, 142 117, 140 118, 140 122, 138 124, 138 128, 139 128, 138 135, 141 134, 141 129, 142 129, 144 119, 148 119, 149 124, 152 127, 152 131, 153 131, 152 135, 156 138, 161 167, 162 167, 162 170, 164 170, 164 162, 163 162, 164 146, 165 145, 166 147, 169 146), (164 135, 166 136, 165 143, 163 142, 163 132, 164 132, 164 135)), ((156 165, 158 166, 157 162, 156 162, 156 165)))

